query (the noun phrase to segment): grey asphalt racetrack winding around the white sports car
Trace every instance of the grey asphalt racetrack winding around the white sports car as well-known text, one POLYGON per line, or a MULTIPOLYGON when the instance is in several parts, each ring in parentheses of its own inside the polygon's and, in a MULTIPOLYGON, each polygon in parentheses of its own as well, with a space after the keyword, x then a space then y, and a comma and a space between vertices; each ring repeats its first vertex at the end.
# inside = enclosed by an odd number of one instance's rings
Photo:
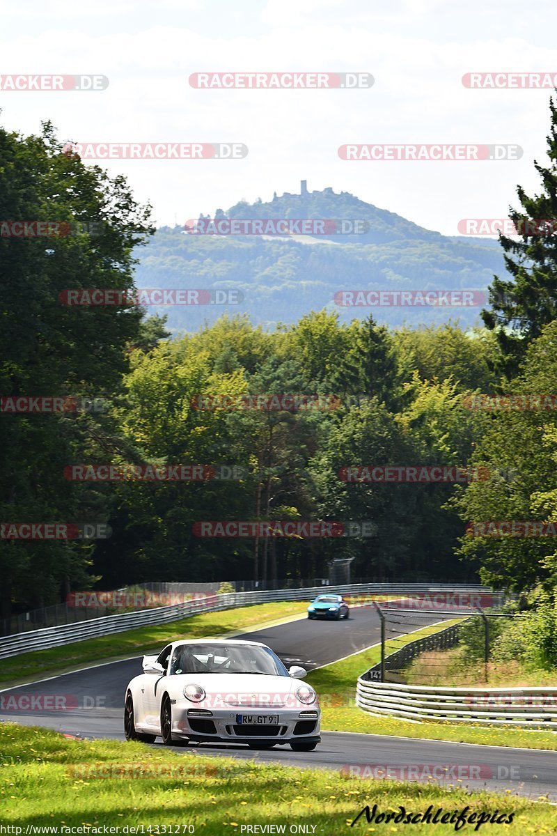
MULTIPOLYGON (((392 635, 392 630, 396 630, 397 634, 409 632, 418 629, 420 624, 436 623, 443 616, 418 616, 414 612, 409 616, 400 613, 391 618, 387 622, 387 637, 392 635), (396 618, 399 623, 394 624, 391 618, 396 618)), ((312 670, 377 644, 379 630, 376 611, 362 608, 352 609, 348 620, 299 619, 243 633, 241 637, 269 645, 286 666, 302 665, 306 670, 312 670)), ((172 635, 168 640, 172 640, 172 635)), ((118 634, 114 635, 114 643, 118 644, 118 634)), ((140 662, 140 657, 111 662, 38 681, 34 685, 4 690, 4 705, 10 695, 64 695, 66 703, 75 707, 65 711, 40 708, 33 711, 4 710, 0 711, 0 720, 17 721, 26 726, 46 726, 80 737, 123 740, 125 688, 129 680, 141 672, 140 662)), ((160 738, 153 745, 163 750, 160 738)), ((548 795, 551 801, 557 802, 557 752, 346 732, 322 732, 322 742, 314 752, 292 752, 290 747, 255 751, 243 746, 212 743, 172 748, 185 757, 195 757, 199 752, 215 757, 226 755, 337 771, 351 765, 368 765, 367 774, 381 774, 382 768, 386 767, 415 767, 413 774, 419 776, 422 772, 427 775, 430 767, 442 767, 437 768, 438 773, 447 776, 440 781, 442 784, 446 781, 447 784, 469 788, 510 790, 529 798, 548 795)), ((412 771, 409 777, 412 777, 412 771)))

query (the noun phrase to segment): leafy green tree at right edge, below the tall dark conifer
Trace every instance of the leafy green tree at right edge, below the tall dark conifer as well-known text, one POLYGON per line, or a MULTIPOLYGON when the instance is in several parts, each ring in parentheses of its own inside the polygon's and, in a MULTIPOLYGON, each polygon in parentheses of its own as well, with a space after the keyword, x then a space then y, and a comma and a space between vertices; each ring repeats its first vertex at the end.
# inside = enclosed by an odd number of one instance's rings
MULTIPOLYGON (((557 419, 554 410, 528 408, 533 394, 554 390, 555 380, 557 322, 546 325, 529 345, 522 373, 510 387, 511 395, 527 396, 526 408, 488 415, 488 429, 472 461, 494 472, 494 478, 458 491, 453 504, 463 522, 557 523, 557 419)), ((479 565, 486 584, 518 591, 544 584, 550 590, 557 581, 557 552, 551 537, 464 536, 460 553, 479 565)))

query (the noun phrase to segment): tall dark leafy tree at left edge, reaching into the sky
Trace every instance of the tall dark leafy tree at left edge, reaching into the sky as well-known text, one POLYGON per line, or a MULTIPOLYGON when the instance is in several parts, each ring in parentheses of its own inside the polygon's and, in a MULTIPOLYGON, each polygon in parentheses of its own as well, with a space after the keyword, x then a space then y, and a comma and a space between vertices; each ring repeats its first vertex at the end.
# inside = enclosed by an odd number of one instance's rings
MULTIPOLYGON (((132 250, 151 228, 149 207, 134 201, 123 177, 111 179, 64 154, 49 123, 28 137, 0 129, 0 158, 0 217, 68 224, 48 239, 0 237, 0 393, 108 398, 127 368, 125 349, 139 334, 142 312, 124 304, 70 306, 59 294, 133 291, 132 250), (64 234, 71 225, 74 234, 64 234)), ((93 425, 89 415, 73 412, 2 415, 3 521, 98 520, 97 503, 63 478, 84 437, 91 441, 93 425)), ((38 606, 57 601, 69 584, 83 584, 90 553, 90 545, 77 543, 3 543, 3 615, 13 598, 38 606)))

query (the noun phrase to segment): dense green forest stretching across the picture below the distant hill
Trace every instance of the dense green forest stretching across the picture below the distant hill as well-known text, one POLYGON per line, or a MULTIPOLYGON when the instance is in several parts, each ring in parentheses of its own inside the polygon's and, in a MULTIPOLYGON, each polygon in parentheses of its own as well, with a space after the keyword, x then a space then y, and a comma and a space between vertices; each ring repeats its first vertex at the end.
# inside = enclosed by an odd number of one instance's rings
MULTIPOLYGON (((555 217, 553 104, 551 117, 544 191, 519 189, 515 222, 555 217)), ((482 327, 392 329, 321 309, 268 329, 227 312, 171 337, 164 318, 124 298, 61 302, 68 288, 133 292, 154 230, 124 178, 64 154, 49 124, 29 137, 0 130, 0 155, 2 217, 73 225, 48 241, 0 237, 3 614, 94 584, 325 577, 333 558, 352 558, 357 577, 554 587, 548 527, 526 537, 470 528, 557 523, 555 399, 532 398, 557 380, 554 233, 501 238, 506 272, 482 327), (39 396, 95 408, 13 410, 39 396), (99 476, 109 465, 113 481, 99 476), (149 466, 197 466, 202 477, 149 479, 149 466), (376 478, 379 467, 407 476, 376 478), (440 479, 434 467, 447 468, 440 479), (430 476, 408 477, 421 468, 430 476), (57 521, 103 524, 109 537, 11 533, 57 521), (211 521, 337 528, 200 536, 211 521)))

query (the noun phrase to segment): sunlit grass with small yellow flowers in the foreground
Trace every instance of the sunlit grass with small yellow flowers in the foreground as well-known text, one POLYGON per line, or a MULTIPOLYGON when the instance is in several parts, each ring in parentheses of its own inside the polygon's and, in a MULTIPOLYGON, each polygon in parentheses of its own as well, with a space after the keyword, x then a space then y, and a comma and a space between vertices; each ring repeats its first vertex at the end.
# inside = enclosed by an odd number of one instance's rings
MULTIPOLYGON (((64 833, 63 827, 84 827, 84 833, 100 828, 102 833, 104 826, 124 833, 126 826, 142 825, 144 833, 149 825, 150 833, 187 833, 192 825, 198 836, 240 836, 242 824, 285 825, 286 833, 303 824, 307 829, 301 832, 336 836, 347 832, 362 808, 374 804, 377 813, 399 813, 400 806, 407 813, 425 813, 430 804, 433 813, 468 808, 468 815, 477 816, 497 810, 504 818, 514 813, 513 822, 504 828, 486 823, 480 833, 557 833, 555 808, 526 798, 468 793, 445 782, 345 778, 325 769, 204 757, 188 750, 180 754, 141 743, 68 740, 12 723, 0 725, 0 767, 0 823, 22 828, 20 833, 27 825, 58 827, 58 833, 64 833)), ((473 833, 474 827, 470 823, 461 832, 473 833)), ((409 829, 441 836, 455 832, 451 823, 434 828, 415 823, 409 829)), ((353 832, 373 830, 406 832, 403 824, 392 822, 370 826, 365 817, 353 832)))

